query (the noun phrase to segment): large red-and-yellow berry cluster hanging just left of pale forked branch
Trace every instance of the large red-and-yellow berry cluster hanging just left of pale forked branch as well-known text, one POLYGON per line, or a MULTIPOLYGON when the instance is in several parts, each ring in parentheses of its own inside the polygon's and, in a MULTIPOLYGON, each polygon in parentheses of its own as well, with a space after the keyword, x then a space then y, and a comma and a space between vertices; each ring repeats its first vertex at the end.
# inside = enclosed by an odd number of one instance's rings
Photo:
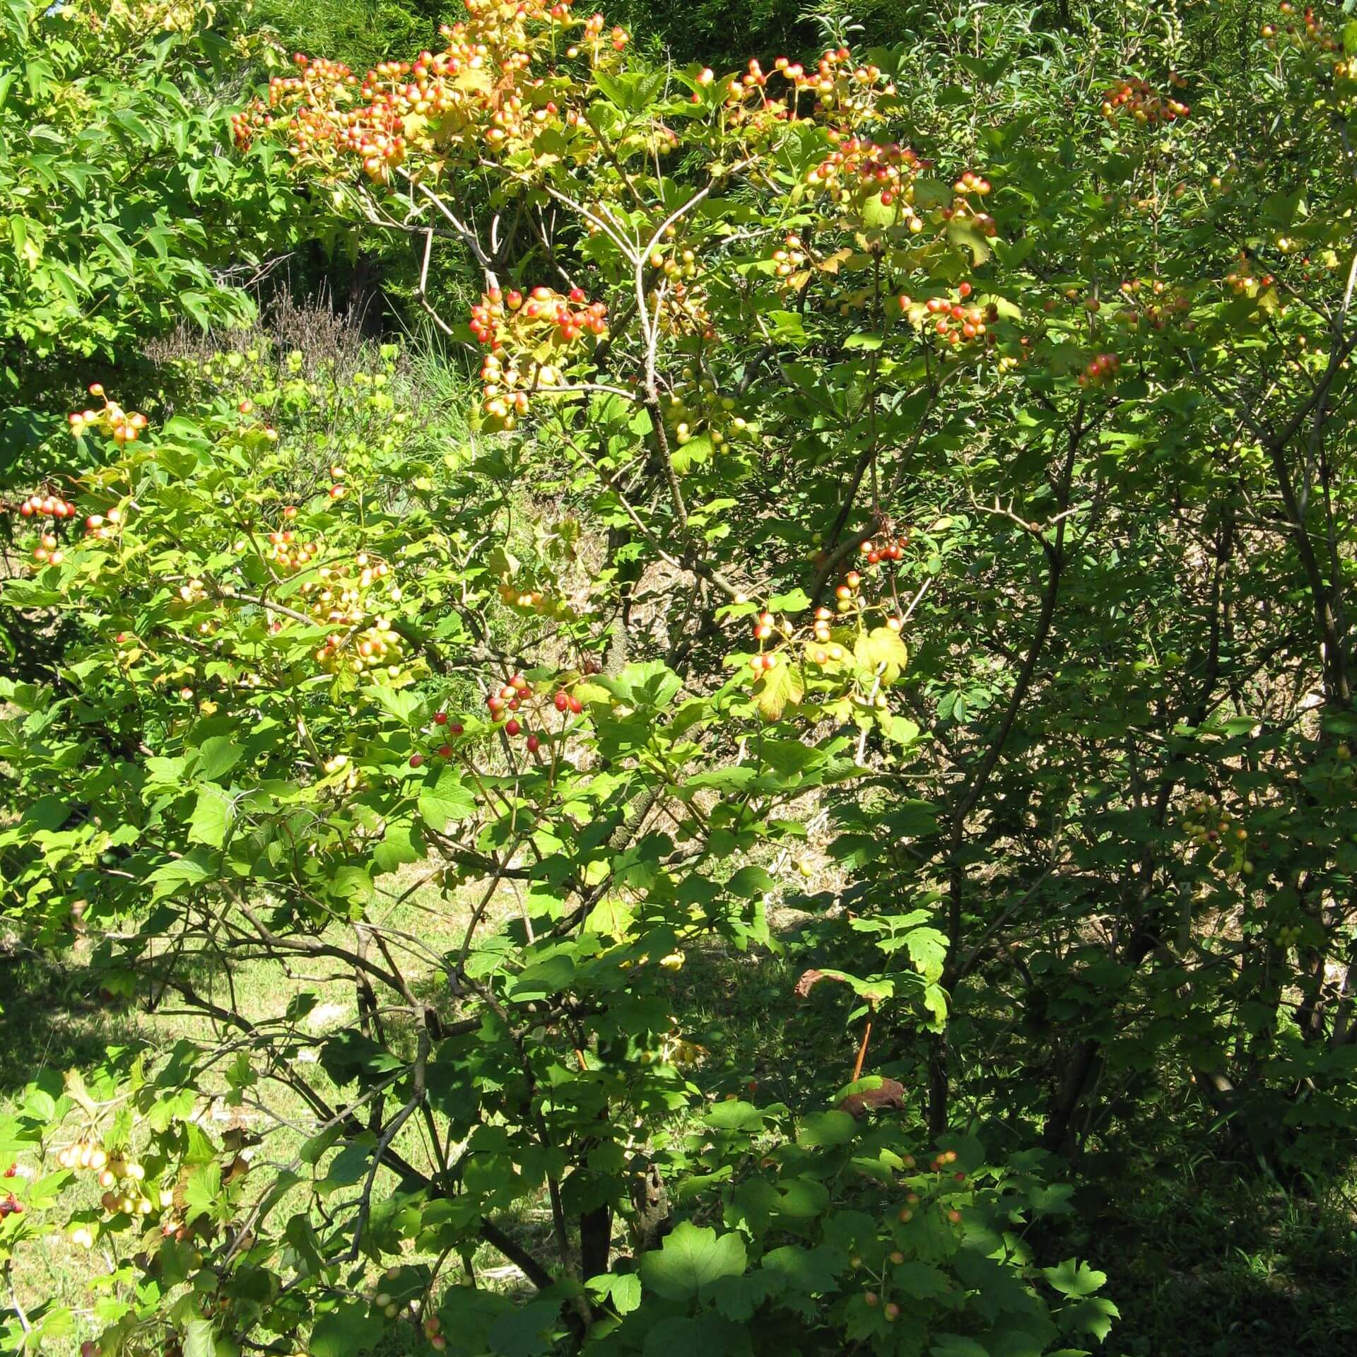
POLYGON ((608 308, 586 303, 581 288, 569 294, 533 288, 527 297, 495 288, 472 307, 471 332, 490 350, 480 366, 484 411, 512 429, 533 394, 570 385, 560 361, 586 335, 598 339, 608 332, 608 308), (548 356, 556 362, 544 361, 548 356))

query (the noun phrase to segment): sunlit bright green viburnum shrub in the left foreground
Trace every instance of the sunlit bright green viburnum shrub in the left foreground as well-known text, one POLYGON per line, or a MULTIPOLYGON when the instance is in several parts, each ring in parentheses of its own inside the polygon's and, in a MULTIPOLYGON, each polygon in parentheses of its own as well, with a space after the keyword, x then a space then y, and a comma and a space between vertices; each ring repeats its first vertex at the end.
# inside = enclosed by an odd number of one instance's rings
MULTIPOLYGON (((860 773, 829 712, 886 710, 890 608, 852 571, 805 627, 790 600, 753 615, 725 683, 604 666, 611 589, 531 560, 495 442, 449 453, 395 350, 301 366, 217 354, 180 365, 167 422, 75 417, 102 442, 61 479, 84 525, 56 524, 60 555, 5 590, 85 628, 69 691, 3 688, 27 807, 0 829, 8 904, 49 944, 94 943, 110 999, 205 1025, 39 1077, 3 1122, 0 1261, 58 1229, 109 1269, 92 1310, 37 1305, 11 1339, 740 1349, 756 1315, 760 1349, 1101 1331, 1101 1274, 1044 1277, 1014 1234, 1063 1208, 1042 1156, 925 1153, 862 1056, 837 1110, 759 1106, 742 1082, 712 1102, 726 1076, 673 1016, 696 949, 771 942, 765 900, 805 841, 783 807, 860 773), (570 605, 506 603, 510 567, 570 605), (261 966, 255 1008, 235 987, 261 966), (517 1220, 537 1204, 544 1229, 517 1220)), ((936 1022, 925 920, 893 938, 913 965, 835 978, 936 1022)))

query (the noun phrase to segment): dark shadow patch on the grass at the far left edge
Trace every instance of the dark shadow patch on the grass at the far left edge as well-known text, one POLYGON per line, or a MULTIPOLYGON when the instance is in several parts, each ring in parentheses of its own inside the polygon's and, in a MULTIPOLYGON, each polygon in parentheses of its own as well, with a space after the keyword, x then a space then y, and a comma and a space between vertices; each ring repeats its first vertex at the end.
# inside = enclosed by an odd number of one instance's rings
POLYGON ((0 1096, 16 1094, 39 1069, 87 1068, 110 1046, 140 1039, 136 1012, 104 993, 92 972, 33 957, 0 959, 0 1096))

